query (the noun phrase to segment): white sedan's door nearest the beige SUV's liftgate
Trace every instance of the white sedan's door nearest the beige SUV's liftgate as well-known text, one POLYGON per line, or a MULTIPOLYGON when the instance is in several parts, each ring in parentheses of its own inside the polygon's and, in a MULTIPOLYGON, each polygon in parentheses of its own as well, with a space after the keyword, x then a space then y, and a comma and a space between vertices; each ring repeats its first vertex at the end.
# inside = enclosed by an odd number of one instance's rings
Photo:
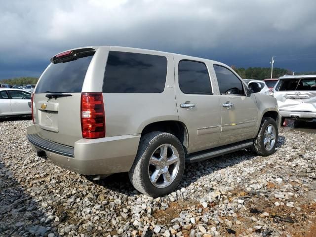
POLYGON ((12 114, 31 114, 31 93, 22 90, 8 90, 12 114))

